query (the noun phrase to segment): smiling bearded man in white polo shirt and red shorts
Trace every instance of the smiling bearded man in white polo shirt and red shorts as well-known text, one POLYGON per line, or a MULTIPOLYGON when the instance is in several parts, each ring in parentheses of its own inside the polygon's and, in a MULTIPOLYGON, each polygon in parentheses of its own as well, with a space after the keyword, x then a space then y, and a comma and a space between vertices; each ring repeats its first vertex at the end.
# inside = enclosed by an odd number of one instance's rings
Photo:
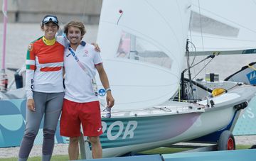
POLYGON ((80 21, 70 21, 64 27, 64 33, 70 40, 70 47, 65 48, 65 99, 60 118, 60 135, 70 137, 68 154, 70 160, 78 160, 80 123, 84 135, 87 135, 92 145, 92 157, 102 157, 100 135, 102 125, 100 103, 97 91, 93 87, 96 72, 107 93, 107 106, 114 106, 107 74, 103 68, 100 53, 95 47, 82 41, 86 33, 85 26, 80 21))

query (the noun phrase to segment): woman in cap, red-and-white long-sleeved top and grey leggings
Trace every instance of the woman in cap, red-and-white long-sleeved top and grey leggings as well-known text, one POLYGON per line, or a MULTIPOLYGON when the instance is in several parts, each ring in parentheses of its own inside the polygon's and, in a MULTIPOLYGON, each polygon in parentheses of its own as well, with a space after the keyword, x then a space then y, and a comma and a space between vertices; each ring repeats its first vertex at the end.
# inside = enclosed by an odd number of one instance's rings
MULTIPOLYGON (((63 104, 63 52, 65 45, 59 43, 58 18, 46 15, 41 23, 44 36, 28 46, 26 57, 26 129, 21 141, 18 160, 27 160, 43 123, 42 160, 50 160, 53 153, 54 135, 63 104)), ((64 41, 63 41, 64 42, 64 41)))

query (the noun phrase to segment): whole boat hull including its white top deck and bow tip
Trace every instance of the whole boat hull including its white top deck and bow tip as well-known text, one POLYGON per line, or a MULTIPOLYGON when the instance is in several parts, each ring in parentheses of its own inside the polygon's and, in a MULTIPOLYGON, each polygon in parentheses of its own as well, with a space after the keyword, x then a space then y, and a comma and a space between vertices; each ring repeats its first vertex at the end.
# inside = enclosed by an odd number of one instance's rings
MULTIPOLYGON (((212 108, 206 107, 205 101, 201 101, 203 106, 168 101, 163 106, 144 111, 113 111, 112 118, 102 119, 105 122, 103 124, 107 124, 107 130, 101 138, 103 156, 114 157, 127 152, 138 152, 186 142, 223 129, 232 131, 240 114, 240 110, 237 111, 234 106, 247 102, 252 96, 255 96, 255 88, 236 87, 233 91, 213 98, 215 106, 212 108), (250 94, 242 94, 248 90, 247 88, 251 88, 249 89, 250 94), (192 106, 192 108, 188 108, 188 106, 192 106), (135 113, 137 116, 134 116, 135 113), (113 123, 116 125, 110 128, 113 123), (124 125, 124 128, 119 126, 120 124, 124 125), (127 131, 131 135, 127 135, 127 131), (143 133, 143 131, 146 132, 143 133), (140 135, 141 133, 143 134, 140 135), (115 137, 114 140, 108 139, 110 135, 115 137), (116 137, 117 135, 119 136, 116 137)), ((102 115, 104 116, 105 113, 102 115)), ((217 140, 218 138, 215 138, 215 143, 217 140)), ((211 141, 209 140, 209 142, 211 141)))

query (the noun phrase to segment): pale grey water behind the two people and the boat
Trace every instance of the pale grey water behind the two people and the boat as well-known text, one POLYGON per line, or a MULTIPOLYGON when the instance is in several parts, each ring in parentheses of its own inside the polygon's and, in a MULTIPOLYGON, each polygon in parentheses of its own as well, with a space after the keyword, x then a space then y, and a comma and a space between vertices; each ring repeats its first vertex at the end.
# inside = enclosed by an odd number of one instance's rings
MULTIPOLYGON (((0 23, 0 55, 2 54, 3 43, 2 26, 3 23, 0 23)), ((63 26, 60 26, 60 28, 63 28, 63 26)), ((87 33, 85 34, 84 40, 88 43, 95 43, 98 26, 90 25, 85 26, 85 28, 87 29, 87 33)), ((26 60, 26 50, 28 48, 28 44, 42 35, 43 31, 41 30, 39 23, 8 23, 6 38, 6 67, 21 67, 26 60)), ((203 58, 204 56, 196 57, 195 62, 198 62, 203 58)), ((193 57, 191 57, 191 62, 192 60, 193 57)), ((256 55, 219 55, 213 59, 210 65, 208 65, 200 74, 198 74, 197 78, 204 78, 206 73, 214 72, 220 74, 220 79, 225 79, 225 77, 237 72, 241 67, 253 61, 256 61, 256 55)), ((192 74, 195 75, 195 73, 201 70, 206 62, 202 62, 200 65, 197 65, 191 69, 192 74)), ((186 65, 186 62, 184 62, 184 65, 186 65)), ((9 70, 6 72, 9 80, 14 78, 14 72, 9 70)))

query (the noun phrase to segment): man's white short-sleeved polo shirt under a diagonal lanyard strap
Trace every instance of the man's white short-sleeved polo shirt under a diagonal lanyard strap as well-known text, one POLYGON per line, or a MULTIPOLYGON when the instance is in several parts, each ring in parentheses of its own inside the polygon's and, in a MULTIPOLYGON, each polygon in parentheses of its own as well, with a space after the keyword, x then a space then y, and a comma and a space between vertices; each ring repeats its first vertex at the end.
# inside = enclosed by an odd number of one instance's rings
MULTIPOLYGON (((100 52, 95 51, 95 47, 82 42, 76 50, 73 50, 78 60, 86 70, 95 77, 97 69, 95 65, 102 63, 100 52)), ((64 52, 65 67, 65 99, 79 103, 98 101, 98 96, 92 87, 92 77, 90 77, 75 61, 68 48, 64 52)))

